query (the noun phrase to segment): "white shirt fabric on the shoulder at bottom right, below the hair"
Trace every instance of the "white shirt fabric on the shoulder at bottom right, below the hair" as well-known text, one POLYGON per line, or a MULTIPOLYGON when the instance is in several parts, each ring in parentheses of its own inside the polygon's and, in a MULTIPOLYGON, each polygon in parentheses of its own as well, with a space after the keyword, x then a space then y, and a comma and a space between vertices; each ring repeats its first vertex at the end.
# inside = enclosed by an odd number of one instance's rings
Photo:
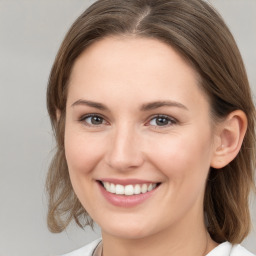
POLYGON ((255 256, 239 244, 225 242, 214 248, 206 256, 255 256))

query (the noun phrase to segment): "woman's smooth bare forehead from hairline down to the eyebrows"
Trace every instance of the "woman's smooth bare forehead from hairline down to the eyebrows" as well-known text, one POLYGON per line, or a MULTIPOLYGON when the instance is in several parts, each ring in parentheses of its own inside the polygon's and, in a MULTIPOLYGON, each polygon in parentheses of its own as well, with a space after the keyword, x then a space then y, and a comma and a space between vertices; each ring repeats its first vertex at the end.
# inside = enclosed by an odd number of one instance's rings
MULTIPOLYGON (((184 101, 206 98, 195 70, 169 45, 156 39, 108 37, 89 46, 76 60, 68 100, 114 96, 134 101, 184 101), (193 99, 194 97, 194 99, 193 99)), ((192 102, 191 102, 192 103, 192 102)))

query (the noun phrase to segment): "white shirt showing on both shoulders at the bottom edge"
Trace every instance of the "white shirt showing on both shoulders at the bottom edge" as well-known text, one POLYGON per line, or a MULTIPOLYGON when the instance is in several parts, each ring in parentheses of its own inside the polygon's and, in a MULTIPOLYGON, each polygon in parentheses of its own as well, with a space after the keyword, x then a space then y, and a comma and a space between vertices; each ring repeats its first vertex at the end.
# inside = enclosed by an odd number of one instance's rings
MULTIPOLYGON (((90 244, 75 250, 73 252, 64 254, 62 256, 101 256, 102 243, 101 239, 97 239, 90 244)), ((212 251, 210 251, 206 256, 256 256, 239 244, 232 245, 229 242, 224 242, 212 251)))

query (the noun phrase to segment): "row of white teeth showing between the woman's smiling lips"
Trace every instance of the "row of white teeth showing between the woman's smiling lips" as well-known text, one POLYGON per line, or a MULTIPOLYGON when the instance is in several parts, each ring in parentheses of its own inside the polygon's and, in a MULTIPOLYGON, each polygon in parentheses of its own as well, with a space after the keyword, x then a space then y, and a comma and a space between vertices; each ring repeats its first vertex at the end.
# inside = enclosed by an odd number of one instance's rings
POLYGON ((104 188, 116 195, 138 195, 138 194, 144 194, 151 190, 153 190, 157 184, 156 183, 150 183, 150 184, 135 184, 135 185, 120 185, 120 184, 113 184, 109 182, 103 182, 104 188))

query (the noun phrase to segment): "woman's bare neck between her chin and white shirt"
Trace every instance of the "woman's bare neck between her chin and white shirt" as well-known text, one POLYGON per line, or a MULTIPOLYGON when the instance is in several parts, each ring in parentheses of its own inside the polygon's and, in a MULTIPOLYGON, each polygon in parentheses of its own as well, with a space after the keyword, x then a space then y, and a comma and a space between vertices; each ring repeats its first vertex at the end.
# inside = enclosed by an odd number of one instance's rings
POLYGON ((200 225, 198 221, 185 221, 144 238, 120 238, 104 231, 102 237, 104 256, 205 256, 217 246, 209 236, 203 219, 200 225))

